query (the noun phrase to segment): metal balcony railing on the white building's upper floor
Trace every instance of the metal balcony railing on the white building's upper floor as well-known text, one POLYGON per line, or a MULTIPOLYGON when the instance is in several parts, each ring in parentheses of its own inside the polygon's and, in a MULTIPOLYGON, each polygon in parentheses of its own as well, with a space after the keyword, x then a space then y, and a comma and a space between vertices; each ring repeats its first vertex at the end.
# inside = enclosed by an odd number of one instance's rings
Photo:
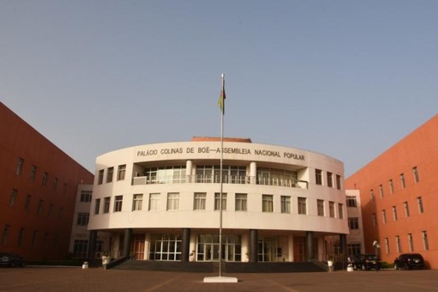
MULTIPOLYGON (((226 175, 222 177, 223 183, 237 184, 259 184, 272 186, 285 186, 296 188, 309 188, 309 183, 301 180, 282 179, 282 178, 266 178, 253 176, 226 175)), ((133 177, 132 185, 144 184, 162 184, 162 183, 220 183, 219 176, 192 175, 184 177, 166 176, 166 177, 133 177)))

